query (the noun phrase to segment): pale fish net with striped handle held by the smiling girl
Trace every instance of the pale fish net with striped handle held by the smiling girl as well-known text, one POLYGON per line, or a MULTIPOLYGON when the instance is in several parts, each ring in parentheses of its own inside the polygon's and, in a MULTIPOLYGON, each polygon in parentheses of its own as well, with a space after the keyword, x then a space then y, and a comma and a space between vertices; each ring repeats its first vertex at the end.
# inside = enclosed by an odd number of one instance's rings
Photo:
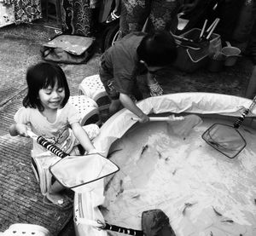
POLYGON ((72 156, 64 153, 59 147, 47 141, 42 135, 35 135, 30 130, 27 133, 39 145, 61 158, 61 160, 49 166, 49 172, 64 187, 80 187, 109 176, 119 170, 116 164, 113 164, 108 158, 103 157, 99 153, 72 156))

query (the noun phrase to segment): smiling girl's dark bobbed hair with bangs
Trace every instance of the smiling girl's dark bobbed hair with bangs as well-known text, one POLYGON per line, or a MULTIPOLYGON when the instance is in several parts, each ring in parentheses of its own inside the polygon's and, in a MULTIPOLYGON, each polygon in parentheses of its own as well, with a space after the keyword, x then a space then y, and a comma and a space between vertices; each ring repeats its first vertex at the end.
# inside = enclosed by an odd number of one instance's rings
POLYGON ((44 106, 42 106, 38 98, 38 92, 40 89, 46 89, 49 86, 53 88, 56 82, 58 87, 65 89, 65 98, 61 103, 63 107, 67 104, 70 91, 67 78, 61 67, 49 62, 39 62, 37 65, 29 67, 26 72, 28 91, 23 100, 23 106, 38 108, 39 111, 44 111, 44 106))

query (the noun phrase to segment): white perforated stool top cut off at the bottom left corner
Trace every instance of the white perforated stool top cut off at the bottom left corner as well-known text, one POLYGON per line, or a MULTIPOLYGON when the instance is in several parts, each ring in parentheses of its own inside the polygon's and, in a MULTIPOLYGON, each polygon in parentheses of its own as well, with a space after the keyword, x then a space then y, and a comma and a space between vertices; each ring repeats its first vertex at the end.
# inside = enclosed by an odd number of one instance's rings
POLYGON ((3 236, 51 236, 45 227, 33 224, 13 224, 3 232, 3 236))

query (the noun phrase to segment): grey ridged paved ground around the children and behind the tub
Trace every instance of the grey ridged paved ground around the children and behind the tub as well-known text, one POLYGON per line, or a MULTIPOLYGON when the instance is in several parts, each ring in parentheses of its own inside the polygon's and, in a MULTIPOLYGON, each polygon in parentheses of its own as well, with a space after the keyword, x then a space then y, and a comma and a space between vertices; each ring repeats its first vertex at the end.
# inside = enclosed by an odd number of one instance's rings
MULTIPOLYGON (((48 227, 56 235, 70 218, 69 214, 51 210, 42 204, 28 158, 31 142, 10 137, 8 133, 15 111, 26 94, 26 68, 41 60, 40 45, 54 35, 53 29, 38 24, 0 28, 1 230, 15 222, 30 222, 48 227), (23 207, 17 212, 20 204, 23 207), (40 209, 47 212, 43 214, 40 209), (52 221, 53 218, 56 221, 52 221)), ((97 73, 98 60, 99 55, 95 55, 86 65, 61 65, 67 75, 71 95, 78 94, 83 78, 97 73)), ((172 68, 161 72, 159 81, 166 94, 199 91, 244 96, 251 70, 252 62, 241 58, 236 66, 226 67, 218 73, 202 68, 189 74, 172 68)), ((67 227, 67 234, 73 234, 72 227, 67 227)))

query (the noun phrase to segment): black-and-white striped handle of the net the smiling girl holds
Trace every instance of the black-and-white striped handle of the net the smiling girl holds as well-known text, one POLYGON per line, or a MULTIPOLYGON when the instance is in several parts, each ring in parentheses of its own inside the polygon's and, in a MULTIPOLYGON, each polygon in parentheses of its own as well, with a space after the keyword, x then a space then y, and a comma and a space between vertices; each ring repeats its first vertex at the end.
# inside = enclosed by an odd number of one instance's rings
POLYGON ((55 154, 60 158, 65 158, 68 156, 67 153, 64 153, 59 147, 56 147, 51 142, 47 141, 42 135, 36 135, 31 130, 27 130, 27 135, 29 135, 33 140, 37 141, 39 145, 46 148, 49 152, 55 154))

